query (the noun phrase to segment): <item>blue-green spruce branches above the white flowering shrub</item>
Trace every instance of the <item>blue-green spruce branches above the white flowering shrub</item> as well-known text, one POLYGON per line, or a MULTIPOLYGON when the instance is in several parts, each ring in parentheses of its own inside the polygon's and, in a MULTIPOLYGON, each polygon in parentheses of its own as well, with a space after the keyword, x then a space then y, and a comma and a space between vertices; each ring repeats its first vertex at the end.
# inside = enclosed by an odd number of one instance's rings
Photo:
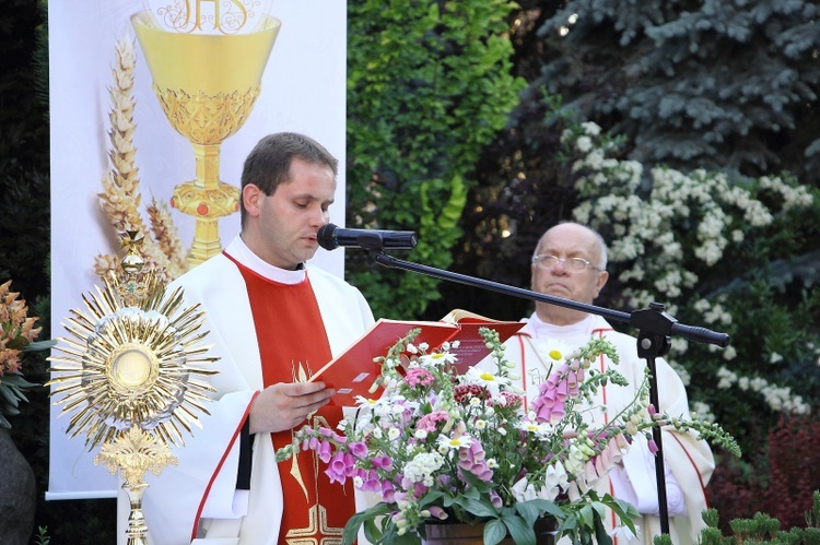
POLYGON ((633 142, 631 157, 818 180, 812 0, 572 0, 540 24, 536 88, 633 142), (813 128, 813 129, 812 129, 813 128))

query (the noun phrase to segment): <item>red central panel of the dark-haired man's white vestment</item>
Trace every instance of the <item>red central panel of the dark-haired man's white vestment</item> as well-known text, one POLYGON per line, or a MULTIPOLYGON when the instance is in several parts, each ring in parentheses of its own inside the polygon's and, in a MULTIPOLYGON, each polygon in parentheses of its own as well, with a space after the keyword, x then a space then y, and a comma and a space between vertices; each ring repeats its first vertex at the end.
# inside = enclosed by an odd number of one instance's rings
MULTIPOLYGON (((281 284, 237 265, 248 288, 265 386, 293 382, 300 364, 305 370, 316 370, 328 363, 330 344, 311 281, 281 284)), ((341 407, 325 406, 314 418, 336 429, 341 416, 341 407)), ((291 430, 272 434, 272 438, 277 449, 293 440, 291 430)), ((279 475, 284 499, 279 543, 340 544, 342 529, 355 513, 352 487, 331 484, 313 451, 280 462, 279 475)))

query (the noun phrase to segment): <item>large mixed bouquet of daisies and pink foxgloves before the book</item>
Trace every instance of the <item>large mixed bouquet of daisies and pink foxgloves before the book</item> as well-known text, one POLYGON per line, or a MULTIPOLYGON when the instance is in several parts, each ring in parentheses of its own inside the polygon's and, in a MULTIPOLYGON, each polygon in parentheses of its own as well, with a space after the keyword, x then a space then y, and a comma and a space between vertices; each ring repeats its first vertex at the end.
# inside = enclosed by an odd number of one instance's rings
POLYGON ((618 362, 614 347, 601 339, 565 357, 552 354, 559 364, 525 411, 497 334, 487 328, 481 332, 497 372, 473 367, 454 375, 449 346, 427 353, 412 343, 419 330, 410 331, 378 358, 386 386, 380 399, 360 399, 355 417, 340 423, 341 434, 308 424, 278 451, 282 461, 300 449, 313 450, 331 481, 351 478, 358 489, 380 498, 348 522, 344 543, 352 543, 362 525, 372 543, 419 543, 425 524, 455 521, 483 522, 488 544, 507 534, 518 544, 535 544, 534 525, 544 514, 554 517, 559 533, 575 543, 602 543, 604 507, 635 532, 634 507, 593 489, 635 435, 663 420, 737 449, 714 424, 655 414, 647 379, 609 424, 590 427, 584 412, 591 395, 607 381, 626 383, 612 368, 591 368, 602 354, 618 362))

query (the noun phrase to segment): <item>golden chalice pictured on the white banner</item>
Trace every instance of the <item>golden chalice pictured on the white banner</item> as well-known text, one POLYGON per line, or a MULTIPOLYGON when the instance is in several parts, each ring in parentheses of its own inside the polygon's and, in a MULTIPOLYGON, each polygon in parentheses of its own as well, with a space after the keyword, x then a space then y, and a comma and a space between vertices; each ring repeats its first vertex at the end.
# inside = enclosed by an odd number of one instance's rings
POLYGON ((239 210, 239 189, 220 180, 220 145, 254 108, 281 21, 267 15, 260 29, 232 35, 164 31, 147 11, 131 24, 165 117, 194 144, 197 178, 176 186, 171 200, 196 218, 194 266, 222 251, 218 221, 239 210))

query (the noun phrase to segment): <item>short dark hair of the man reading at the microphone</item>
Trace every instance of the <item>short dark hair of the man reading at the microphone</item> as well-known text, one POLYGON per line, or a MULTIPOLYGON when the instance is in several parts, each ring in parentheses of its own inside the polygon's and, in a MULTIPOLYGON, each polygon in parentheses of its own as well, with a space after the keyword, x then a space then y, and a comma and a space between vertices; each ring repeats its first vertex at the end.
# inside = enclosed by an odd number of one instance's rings
MULTIPOLYGON (((261 139, 250 151, 242 169, 242 189, 248 183, 265 194, 273 194, 280 183, 291 179, 291 162, 297 157, 306 163, 330 167, 339 174, 339 162, 325 146, 311 137, 295 132, 277 132, 261 139)), ((245 227, 245 203, 239 199, 242 226, 245 227)))

